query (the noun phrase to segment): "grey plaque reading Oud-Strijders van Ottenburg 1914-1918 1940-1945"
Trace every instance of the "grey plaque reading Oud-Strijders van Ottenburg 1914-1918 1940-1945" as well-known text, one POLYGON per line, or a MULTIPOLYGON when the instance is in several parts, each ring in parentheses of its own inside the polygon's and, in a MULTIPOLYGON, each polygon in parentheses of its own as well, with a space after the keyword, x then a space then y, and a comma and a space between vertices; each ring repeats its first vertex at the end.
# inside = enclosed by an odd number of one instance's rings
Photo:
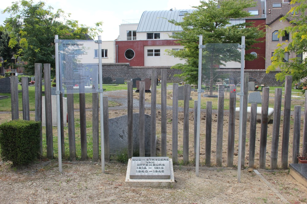
POLYGON ((130 179, 169 179, 168 157, 132 157, 130 179))

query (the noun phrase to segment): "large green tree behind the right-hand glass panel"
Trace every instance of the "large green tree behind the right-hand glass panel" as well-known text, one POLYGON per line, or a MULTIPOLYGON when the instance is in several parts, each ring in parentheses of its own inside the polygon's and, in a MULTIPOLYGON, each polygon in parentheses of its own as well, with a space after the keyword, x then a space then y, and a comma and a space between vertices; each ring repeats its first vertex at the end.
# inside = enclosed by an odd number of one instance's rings
MULTIPOLYGON (((252 22, 231 25, 230 19, 239 19, 251 16, 243 9, 255 6, 253 0, 209 0, 200 1, 200 6, 193 6, 197 9, 193 13, 188 13, 183 21, 169 22, 176 26, 181 26, 183 32, 177 32, 174 39, 180 39, 177 43, 184 46, 183 50, 168 50, 170 55, 185 60, 185 64, 177 64, 172 68, 181 69, 182 74, 188 83, 197 84, 198 81, 198 35, 203 35, 203 44, 206 43, 240 43, 241 36, 245 36, 246 50, 259 43, 257 39, 265 36, 263 26, 253 26, 252 22)), ((253 60, 251 54, 245 55, 246 60, 253 60)))

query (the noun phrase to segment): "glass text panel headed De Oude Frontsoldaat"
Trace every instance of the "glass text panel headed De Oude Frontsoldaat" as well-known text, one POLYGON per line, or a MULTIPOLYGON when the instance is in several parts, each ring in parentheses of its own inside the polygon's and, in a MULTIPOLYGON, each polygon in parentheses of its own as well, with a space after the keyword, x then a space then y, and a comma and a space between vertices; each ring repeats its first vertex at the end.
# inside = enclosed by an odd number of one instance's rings
POLYGON ((94 40, 60 40, 60 90, 66 93, 96 93, 98 63, 94 58, 98 45, 94 40))

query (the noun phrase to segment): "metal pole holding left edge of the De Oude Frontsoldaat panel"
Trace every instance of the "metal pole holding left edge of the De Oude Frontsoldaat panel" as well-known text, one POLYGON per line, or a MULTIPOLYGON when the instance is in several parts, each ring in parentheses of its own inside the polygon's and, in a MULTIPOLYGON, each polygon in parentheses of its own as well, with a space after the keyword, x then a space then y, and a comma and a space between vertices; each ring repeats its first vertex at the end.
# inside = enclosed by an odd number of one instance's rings
MULTIPOLYGON (((61 112, 60 112, 60 61, 59 61, 59 36, 55 35, 55 58, 56 58, 56 119, 58 132, 58 161, 59 172, 62 173, 62 145, 61 145, 61 112)), ((48 79, 47 79, 48 80, 48 79)))

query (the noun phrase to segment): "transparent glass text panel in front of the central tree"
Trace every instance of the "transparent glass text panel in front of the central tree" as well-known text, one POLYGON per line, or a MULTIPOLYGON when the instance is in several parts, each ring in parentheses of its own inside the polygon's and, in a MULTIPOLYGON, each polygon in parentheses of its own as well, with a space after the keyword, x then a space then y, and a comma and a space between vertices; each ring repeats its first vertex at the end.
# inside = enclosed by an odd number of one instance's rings
POLYGON ((241 68, 241 49, 238 46, 238 43, 205 44, 202 53, 202 89, 208 96, 218 95, 224 89, 236 92, 239 81, 225 69, 241 68))

